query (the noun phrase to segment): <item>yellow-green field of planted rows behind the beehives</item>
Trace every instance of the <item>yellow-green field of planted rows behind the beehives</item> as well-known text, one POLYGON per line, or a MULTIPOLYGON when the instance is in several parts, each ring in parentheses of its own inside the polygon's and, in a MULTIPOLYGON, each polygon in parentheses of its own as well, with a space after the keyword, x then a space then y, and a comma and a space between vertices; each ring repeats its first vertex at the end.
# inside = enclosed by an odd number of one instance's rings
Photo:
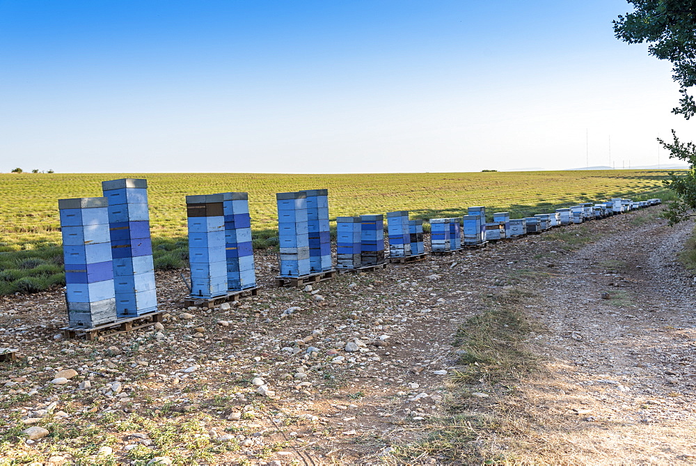
POLYGON ((101 196, 101 182, 147 178, 155 265, 187 258, 187 194, 248 192, 254 247, 276 244, 276 192, 329 189, 331 218, 409 210, 412 218, 457 217, 470 205, 513 218, 610 197, 664 197, 667 171, 535 171, 278 175, 253 173, 2 173, 0 294, 63 284, 58 199, 101 196))

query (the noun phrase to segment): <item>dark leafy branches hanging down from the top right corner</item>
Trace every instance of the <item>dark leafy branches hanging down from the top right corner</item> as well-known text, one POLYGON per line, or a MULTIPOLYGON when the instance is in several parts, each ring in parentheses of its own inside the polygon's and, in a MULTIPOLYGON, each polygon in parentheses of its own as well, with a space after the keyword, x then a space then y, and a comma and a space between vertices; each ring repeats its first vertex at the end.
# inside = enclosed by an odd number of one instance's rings
POLYGON ((696 114, 688 88, 696 85, 696 0, 628 0, 633 13, 614 21, 616 37, 629 44, 648 42, 648 53, 672 62, 672 78, 682 97, 672 109, 687 120, 696 114))

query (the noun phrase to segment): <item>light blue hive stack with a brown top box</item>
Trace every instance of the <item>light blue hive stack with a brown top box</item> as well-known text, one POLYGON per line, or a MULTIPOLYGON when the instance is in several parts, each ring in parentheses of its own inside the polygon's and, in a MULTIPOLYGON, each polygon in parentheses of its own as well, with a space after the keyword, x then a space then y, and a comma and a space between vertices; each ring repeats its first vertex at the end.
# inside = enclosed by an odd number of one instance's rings
POLYGON ((186 196, 189 224, 191 298, 227 294, 225 208, 223 194, 186 196))

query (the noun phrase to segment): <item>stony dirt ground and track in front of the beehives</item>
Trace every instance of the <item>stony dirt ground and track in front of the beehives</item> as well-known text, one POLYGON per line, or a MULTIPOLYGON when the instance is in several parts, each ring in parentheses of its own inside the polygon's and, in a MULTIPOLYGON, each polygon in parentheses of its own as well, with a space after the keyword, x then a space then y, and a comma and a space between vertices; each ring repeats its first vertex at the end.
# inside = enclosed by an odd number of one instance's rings
POLYGON ((660 209, 306 289, 274 288, 276 258, 258 256, 258 297, 215 309, 184 309, 179 273, 161 273, 164 323, 93 342, 61 338, 60 291, 0 298, 0 346, 19 349, 0 363, 0 458, 445 463, 400 454, 452 403, 453 336, 491 296, 525 290, 543 370, 505 396, 482 381, 470 403, 525 418, 531 440, 482 432, 482 456, 688 463, 696 319, 676 254, 693 227, 660 209))

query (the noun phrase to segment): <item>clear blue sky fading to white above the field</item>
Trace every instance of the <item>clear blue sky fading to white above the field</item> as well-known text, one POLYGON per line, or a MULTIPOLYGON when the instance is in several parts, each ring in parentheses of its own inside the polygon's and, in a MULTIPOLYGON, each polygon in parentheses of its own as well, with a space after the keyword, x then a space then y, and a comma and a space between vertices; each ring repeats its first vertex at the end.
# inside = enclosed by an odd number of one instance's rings
MULTIPOLYGON (((0 171, 665 164, 671 65, 624 0, 0 0, 0 171)), ((672 162, 673 163, 673 162, 672 162)))

